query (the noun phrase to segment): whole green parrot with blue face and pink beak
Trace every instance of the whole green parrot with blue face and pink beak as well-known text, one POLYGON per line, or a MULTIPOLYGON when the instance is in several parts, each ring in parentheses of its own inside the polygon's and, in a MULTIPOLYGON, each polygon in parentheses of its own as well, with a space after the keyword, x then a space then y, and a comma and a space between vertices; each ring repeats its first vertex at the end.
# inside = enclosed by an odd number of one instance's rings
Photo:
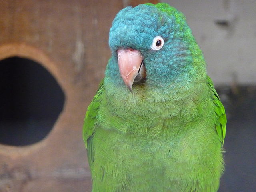
POLYGON ((92 192, 216 192, 226 115, 185 16, 126 7, 109 46, 83 128, 92 192))

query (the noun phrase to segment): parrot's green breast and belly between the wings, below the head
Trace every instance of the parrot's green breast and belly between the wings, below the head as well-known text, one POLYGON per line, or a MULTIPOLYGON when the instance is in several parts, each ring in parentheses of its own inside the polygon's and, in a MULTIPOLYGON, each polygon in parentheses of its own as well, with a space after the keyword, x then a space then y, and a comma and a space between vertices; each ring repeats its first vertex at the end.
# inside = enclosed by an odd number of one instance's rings
POLYGON ((92 137, 94 192, 215 192, 223 164, 207 94, 104 96, 92 137))

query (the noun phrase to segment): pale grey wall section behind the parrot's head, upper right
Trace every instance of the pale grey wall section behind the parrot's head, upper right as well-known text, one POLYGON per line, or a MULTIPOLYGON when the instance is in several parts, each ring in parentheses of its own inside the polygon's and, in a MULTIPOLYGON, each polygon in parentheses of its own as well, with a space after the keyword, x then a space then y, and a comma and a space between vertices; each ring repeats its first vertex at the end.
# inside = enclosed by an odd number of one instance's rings
POLYGON ((256 83, 255 0, 162 0, 183 12, 215 84, 256 83))

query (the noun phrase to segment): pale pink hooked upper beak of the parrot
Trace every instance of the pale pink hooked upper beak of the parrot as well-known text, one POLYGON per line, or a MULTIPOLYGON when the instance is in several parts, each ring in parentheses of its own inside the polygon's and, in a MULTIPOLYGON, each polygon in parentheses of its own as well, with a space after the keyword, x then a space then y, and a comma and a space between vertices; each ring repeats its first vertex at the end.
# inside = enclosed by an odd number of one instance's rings
POLYGON ((118 66, 121 77, 132 92, 132 84, 134 79, 140 71, 140 67, 143 64, 143 57, 140 51, 128 48, 128 49, 118 49, 118 66))

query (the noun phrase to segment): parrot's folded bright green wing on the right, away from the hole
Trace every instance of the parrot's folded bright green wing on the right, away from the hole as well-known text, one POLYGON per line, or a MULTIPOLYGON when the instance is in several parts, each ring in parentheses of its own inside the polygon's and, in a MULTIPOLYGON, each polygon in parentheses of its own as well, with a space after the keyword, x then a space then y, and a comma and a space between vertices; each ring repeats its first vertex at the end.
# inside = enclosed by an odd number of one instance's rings
POLYGON ((224 109, 224 106, 222 105, 222 103, 220 102, 220 97, 218 96, 218 94, 214 88, 213 82, 209 76, 207 76, 207 82, 208 82, 210 90, 212 91, 212 99, 213 99, 214 105, 215 105, 214 106, 214 111, 216 114, 215 128, 216 128, 217 134, 218 134, 220 141, 222 142, 222 146, 223 146, 224 139, 226 136, 226 123, 227 123, 225 109, 224 109))

